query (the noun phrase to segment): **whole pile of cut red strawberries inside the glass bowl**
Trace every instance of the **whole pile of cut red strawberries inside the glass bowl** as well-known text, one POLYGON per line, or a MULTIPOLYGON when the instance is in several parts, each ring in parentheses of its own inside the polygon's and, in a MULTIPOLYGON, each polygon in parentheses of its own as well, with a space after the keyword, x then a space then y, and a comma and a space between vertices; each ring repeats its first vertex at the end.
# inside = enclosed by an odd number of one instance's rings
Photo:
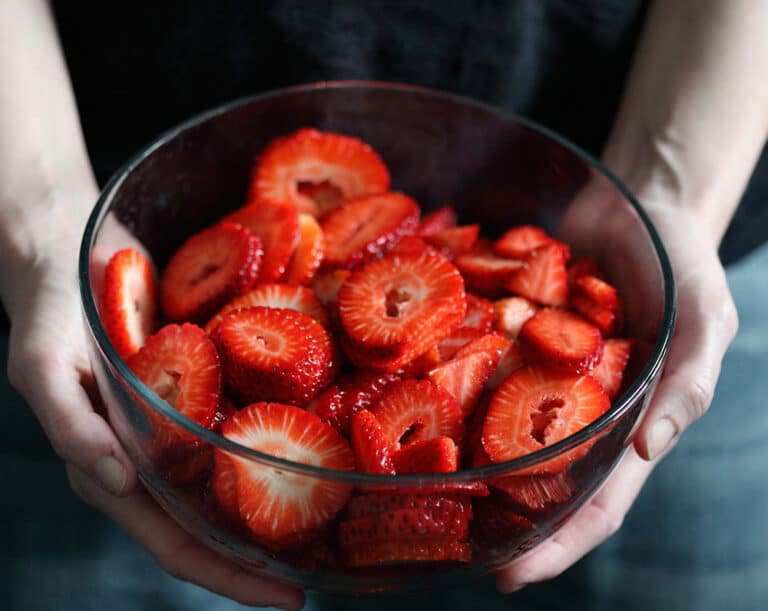
MULTIPOLYGON (((356 138, 301 129, 275 140, 246 205, 189 236, 157 284, 141 253, 114 254, 101 298, 114 347, 200 426, 337 471, 500 463, 605 413, 633 340, 597 264, 536 226, 491 241, 450 207, 422 215, 389 187, 356 138)), ((169 481, 202 482, 271 550, 331 529, 348 567, 469 561, 473 498, 490 487, 536 510, 590 445, 514 477, 353 489, 212 449, 142 407, 169 481)))

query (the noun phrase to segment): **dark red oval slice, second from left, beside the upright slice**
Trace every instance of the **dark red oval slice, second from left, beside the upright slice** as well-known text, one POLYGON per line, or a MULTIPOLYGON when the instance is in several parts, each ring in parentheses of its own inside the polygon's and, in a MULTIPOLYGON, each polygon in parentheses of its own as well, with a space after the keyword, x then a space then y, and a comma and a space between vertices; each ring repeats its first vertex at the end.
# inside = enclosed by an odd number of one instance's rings
POLYGON ((204 323, 259 275, 258 236, 231 223, 196 233, 174 253, 160 278, 160 303, 174 322, 204 323))

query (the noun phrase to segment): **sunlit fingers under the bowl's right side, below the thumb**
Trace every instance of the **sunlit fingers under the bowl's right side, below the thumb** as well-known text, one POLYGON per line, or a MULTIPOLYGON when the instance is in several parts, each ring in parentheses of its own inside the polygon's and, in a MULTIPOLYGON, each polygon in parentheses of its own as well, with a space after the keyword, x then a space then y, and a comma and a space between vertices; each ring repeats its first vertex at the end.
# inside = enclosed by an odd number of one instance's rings
POLYGON ((621 527, 652 469, 653 463, 641 460, 629 448, 602 490, 551 539, 501 569, 496 587, 501 592, 514 592, 526 584, 557 577, 608 539, 621 527))

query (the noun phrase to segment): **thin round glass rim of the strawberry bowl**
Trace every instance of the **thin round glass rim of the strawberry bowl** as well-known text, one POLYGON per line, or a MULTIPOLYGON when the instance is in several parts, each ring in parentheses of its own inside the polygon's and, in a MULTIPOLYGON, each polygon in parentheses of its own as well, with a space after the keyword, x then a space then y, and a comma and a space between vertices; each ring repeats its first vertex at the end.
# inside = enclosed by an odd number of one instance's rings
POLYGON ((96 201, 96 205, 88 218, 88 222, 86 223, 85 231, 83 233, 83 239, 80 246, 78 279, 85 319, 91 334, 96 340, 99 350, 101 350, 101 352, 106 356, 106 359, 113 370, 117 371, 125 383, 128 384, 130 389, 135 392, 145 402, 145 404, 151 406, 152 409, 170 419, 176 425, 191 432, 199 439, 210 443, 212 446, 219 448, 220 450, 248 458, 257 463, 261 463, 265 466, 270 466, 275 469, 287 470, 310 477, 362 487, 389 486, 397 488, 416 488, 420 486, 435 486, 450 483, 472 482, 489 477, 496 477, 499 475, 513 474, 516 471, 521 471, 536 464, 544 463, 547 460, 564 454, 565 452, 579 446, 580 444, 598 435, 601 431, 605 430, 613 423, 621 419, 621 417, 627 413, 627 411, 635 404, 638 398, 644 392, 646 392, 646 390, 648 390, 652 381, 659 374, 666 358, 666 354, 669 350, 672 331, 674 329, 676 309, 676 295, 672 268, 666 254, 666 250, 664 249, 664 246, 661 242, 661 238, 654 228, 653 223, 651 223, 648 215, 642 209, 632 193, 630 193, 629 189, 627 189, 622 184, 622 182, 616 176, 614 176, 610 170, 608 170, 600 161, 593 158, 592 155, 571 143, 564 137, 516 113, 502 111, 489 104, 485 104, 483 102, 479 102, 477 100, 457 94, 446 93, 443 91, 437 91, 416 85, 380 81, 323 81, 298 85, 294 87, 275 89, 256 95, 246 96, 197 114, 156 137, 149 144, 139 150, 139 152, 137 152, 115 172, 115 174, 110 178, 101 194, 99 195, 99 198, 96 201), (172 140, 180 132, 190 127, 193 127, 217 115, 225 114, 236 107, 247 105, 256 101, 267 100, 284 95, 296 95, 317 89, 330 88, 370 90, 379 89, 409 92, 415 95, 431 96, 437 99, 449 100, 468 106, 474 106, 479 110, 495 114, 502 120, 516 121, 528 129, 538 132, 544 137, 556 141, 561 146, 573 152, 583 161, 603 174, 603 176, 610 180, 613 185, 622 193, 622 195, 627 198, 632 207, 635 209, 635 212, 638 214, 640 220, 644 224, 646 230, 648 231, 655 249, 658 263, 662 270, 662 276, 664 279, 664 311, 660 325, 660 333, 656 339, 653 352, 648 363, 646 363, 645 367, 640 372, 640 375, 633 382, 633 384, 627 388, 626 391, 620 397, 618 397, 617 400, 613 402, 611 409, 609 409, 605 414, 592 422, 590 425, 574 433, 573 435, 566 437, 565 439, 552 444, 551 446, 542 448, 537 452, 521 456, 514 460, 474 469, 463 469, 461 471, 449 474, 372 475, 354 471, 336 471, 314 465, 296 463, 283 458, 278 458, 276 456, 271 456, 269 454, 264 454, 257 450, 252 450, 251 448, 232 442, 219 435, 218 433, 205 429, 196 422, 182 415, 180 412, 175 410, 173 407, 155 395, 155 393, 152 392, 149 387, 144 385, 144 383, 141 382, 141 380, 139 380, 139 378, 136 377, 136 375, 128 368, 125 361, 117 354, 107 337, 106 331, 104 330, 104 327, 101 324, 101 320, 99 318, 97 304, 90 289, 91 249, 96 237, 96 231, 101 226, 101 223, 106 214, 109 212, 109 205, 114 193, 120 187, 125 178, 131 173, 131 171, 133 171, 136 166, 138 166, 146 157, 155 151, 155 149, 159 148, 169 140, 172 140))

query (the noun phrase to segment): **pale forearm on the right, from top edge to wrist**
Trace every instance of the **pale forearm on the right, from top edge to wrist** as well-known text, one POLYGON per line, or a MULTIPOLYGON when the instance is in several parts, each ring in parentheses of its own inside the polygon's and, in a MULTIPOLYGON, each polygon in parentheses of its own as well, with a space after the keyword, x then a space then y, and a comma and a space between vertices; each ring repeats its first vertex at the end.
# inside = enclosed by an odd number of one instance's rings
POLYGON ((604 160, 722 238, 768 134, 768 3, 657 0, 604 160))

